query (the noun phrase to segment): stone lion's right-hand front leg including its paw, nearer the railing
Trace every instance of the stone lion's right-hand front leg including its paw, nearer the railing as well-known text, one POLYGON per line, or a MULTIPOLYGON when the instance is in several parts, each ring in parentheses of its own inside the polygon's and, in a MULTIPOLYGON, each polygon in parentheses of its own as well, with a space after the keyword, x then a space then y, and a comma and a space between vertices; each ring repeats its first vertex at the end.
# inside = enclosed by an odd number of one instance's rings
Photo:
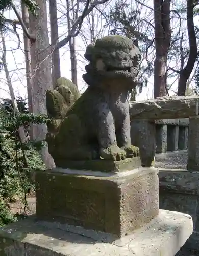
POLYGON ((117 130, 117 144, 125 150, 127 157, 139 156, 139 148, 131 145, 130 116, 127 112, 122 124, 117 130))

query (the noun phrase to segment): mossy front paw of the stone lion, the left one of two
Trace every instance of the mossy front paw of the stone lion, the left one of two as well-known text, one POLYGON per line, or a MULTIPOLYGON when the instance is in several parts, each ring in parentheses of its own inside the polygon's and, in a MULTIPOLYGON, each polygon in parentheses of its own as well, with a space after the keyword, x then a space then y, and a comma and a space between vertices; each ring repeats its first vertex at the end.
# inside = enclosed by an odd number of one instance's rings
POLYGON ((102 158, 113 161, 120 161, 126 158, 126 152, 118 146, 101 148, 100 155, 102 158))

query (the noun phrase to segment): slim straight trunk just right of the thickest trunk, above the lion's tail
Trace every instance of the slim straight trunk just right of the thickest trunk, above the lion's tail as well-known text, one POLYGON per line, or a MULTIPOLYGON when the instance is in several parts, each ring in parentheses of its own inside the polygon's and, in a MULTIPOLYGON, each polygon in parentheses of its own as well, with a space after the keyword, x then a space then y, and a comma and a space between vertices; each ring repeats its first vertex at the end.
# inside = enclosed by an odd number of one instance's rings
MULTIPOLYGON (((50 13, 50 23, 51 23, 51 44, 55 46, 59 39, 56 0, 49 0, 49 13, 50 13)), ((60 78, 61 76, 59 49, 53 51, 52 53, 51 67, 52 67, 53 88, 55 88, 57 79, 60 78)))

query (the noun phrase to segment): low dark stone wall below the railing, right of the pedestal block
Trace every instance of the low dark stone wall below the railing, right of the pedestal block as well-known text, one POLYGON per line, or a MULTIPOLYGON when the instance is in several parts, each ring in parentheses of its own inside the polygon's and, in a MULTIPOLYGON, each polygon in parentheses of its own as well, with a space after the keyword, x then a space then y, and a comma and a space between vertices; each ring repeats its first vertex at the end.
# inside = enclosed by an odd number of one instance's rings
POLYGON ((185 246, 199 251, 199 172, 160 170, 159 193, 160 209, 192 216, 194 232, 185 246))

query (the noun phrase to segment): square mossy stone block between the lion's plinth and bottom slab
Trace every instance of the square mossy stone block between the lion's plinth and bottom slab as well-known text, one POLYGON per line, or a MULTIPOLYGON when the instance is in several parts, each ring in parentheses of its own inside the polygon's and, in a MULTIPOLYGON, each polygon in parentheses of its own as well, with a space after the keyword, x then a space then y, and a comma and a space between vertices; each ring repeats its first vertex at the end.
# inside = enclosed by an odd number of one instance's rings
POLYGON ((158 215, 157 173, 142 167, 117 174, 36 172, 37 217, 124 236, 158 215))

